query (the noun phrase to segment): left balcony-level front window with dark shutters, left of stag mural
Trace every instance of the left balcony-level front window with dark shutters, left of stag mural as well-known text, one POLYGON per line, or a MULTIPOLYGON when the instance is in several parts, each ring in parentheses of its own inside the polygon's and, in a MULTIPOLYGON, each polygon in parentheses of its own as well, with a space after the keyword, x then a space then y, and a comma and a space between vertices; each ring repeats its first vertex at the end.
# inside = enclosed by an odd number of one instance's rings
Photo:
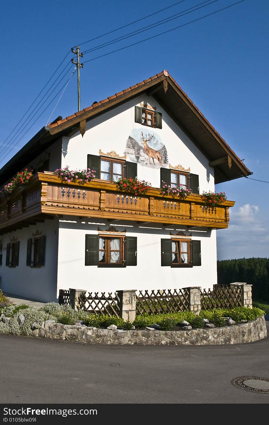
POLYGON ((88 155, 87 167, 95 171, 95 177, 107 181, 117 181, 119 178, 137 176, 137 164, 130 161, 114 161, 107 157, 88 155))

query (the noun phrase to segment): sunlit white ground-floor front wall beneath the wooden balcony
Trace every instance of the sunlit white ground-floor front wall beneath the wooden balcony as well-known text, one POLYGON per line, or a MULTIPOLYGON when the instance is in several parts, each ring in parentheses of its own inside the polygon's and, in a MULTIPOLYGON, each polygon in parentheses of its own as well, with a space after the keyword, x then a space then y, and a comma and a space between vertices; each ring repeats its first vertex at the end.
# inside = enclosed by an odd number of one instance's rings
MULTIPOLYGON (((87 291, 116 291, 119 289, 174 289, 187 286, 212 288, 217 283, 217 257, 215 230, 201 229, 204 232, 192 232, 192 239, 201 241, 201 266, 191 268, 171 268, 161 266, 161 238, 170 238, 170 232, 176 234, 182 226, 141 224, 155 227, 143 229, 130 221, 121 221, 115 225, 117 230, 126 228, 126 236, 137 237, 137 266, 124 268, 102 268, 85 266, 85 235, 96 234, 98 226, 108 229, 107 221, 96 220, 99 224, 85 224, 76 217, 65 217, 59 222, 59 289, 79 288, 87 291), (74 221, 68 222, 69 221, 74 221), (104 224, 102 224, 104 223, 104 224), (130 226, 130 227, 127 227, 130 226), (159 229, 158 229, 159 228, 159 229), (173 230, 170 230, 173 229, 173 230)), ((186 231, 186 235, 190 235, 186 231)))

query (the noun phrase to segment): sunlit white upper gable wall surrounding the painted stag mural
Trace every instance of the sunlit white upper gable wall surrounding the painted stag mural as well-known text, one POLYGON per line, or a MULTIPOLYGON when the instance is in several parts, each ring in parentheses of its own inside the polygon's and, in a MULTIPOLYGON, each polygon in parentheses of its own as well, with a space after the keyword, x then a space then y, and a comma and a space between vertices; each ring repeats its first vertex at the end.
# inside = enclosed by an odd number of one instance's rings
MULTIPOLYGON (((62 167, 69 165, 71 169, 86 168, 87 155, 99 155, 99 149, 103 153, 114 150, 119 156, 123 156, 126 141, 133 129, 138 129, 139 134, 143 131, 144 134, 154 133, 161 138, 161 142, 167 148, 168 160, 173 167, 181 164, 185 169, 190 167, 191 173, 199 175, 200 193, 203 190, 214 191, 214 170, 209 167, 208 160, 161 106, 152 97, 144 94, 87 122, 83 138, 79 132, 71 138, 63 137, 62 167), (140 106, 140 102, 148 102, 162 113, 161 129, 135 122, 134 107, 140 106)), ((153 187, 160 187, 159 167, 138 164, 137 178, 149 181, 153 187)))

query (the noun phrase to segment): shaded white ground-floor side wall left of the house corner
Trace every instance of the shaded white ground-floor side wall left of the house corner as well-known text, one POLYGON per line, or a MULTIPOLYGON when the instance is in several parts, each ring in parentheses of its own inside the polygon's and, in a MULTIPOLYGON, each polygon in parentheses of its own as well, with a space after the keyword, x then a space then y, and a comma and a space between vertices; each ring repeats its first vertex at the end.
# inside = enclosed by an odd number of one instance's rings
POLYGON ((59 222, 56 219, 45 220, 44 223, 24 227, 0 237, 3 244, 0 288, 3 292, 37 301, 57 300, 58 226, 59 222), (26 266, 27 239, 32 238, 37 230, 42 231, 42 235, 46 236, 45 265, 29 267, 26 266), (19 265, 8 267, 6 266, 6 245, 14 237, 20 241, 19 265))

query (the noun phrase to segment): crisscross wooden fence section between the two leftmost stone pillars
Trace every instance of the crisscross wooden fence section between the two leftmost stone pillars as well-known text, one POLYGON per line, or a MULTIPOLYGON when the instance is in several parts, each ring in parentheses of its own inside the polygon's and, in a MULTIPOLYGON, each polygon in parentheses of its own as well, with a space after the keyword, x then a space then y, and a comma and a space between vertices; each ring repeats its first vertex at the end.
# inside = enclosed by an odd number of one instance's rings
POLYGON ((120 299, 117 292, 89 292, 88 295, 81 293, 78 297, 79 306, 88 313, 108 314, 108 316, 119 317, 120 299))

